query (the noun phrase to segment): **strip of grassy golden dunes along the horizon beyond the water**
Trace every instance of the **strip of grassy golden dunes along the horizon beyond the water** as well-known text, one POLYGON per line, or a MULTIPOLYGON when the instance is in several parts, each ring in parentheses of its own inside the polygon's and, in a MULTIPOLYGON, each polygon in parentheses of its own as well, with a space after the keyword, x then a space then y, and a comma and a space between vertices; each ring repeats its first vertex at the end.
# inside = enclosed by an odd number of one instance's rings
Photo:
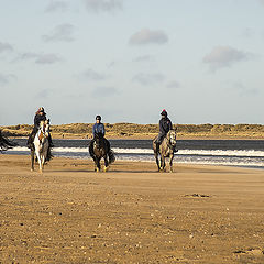
MULTIPOLYGON (((52 125, 54 138, 91 138, 94 123, 52 125)), ((158 124, 105 123, 107 138, 152 139, 158 133, 158 124)), ((28 136, 33 125, 0 127, 7 136, 28 136)), ((179 139, 264 139, 262 124, 175 124, 179 139)))

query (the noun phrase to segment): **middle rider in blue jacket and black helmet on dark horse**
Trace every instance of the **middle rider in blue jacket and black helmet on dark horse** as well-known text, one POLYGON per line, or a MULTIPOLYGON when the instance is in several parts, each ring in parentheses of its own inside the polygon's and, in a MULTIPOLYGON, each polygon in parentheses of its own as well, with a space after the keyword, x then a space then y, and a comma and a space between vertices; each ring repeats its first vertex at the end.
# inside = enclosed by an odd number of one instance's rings
POLYGON ((99 135, 99 134, 103 138, 103 140, 106 142, 107 150, 108 150, 108 156, 109 156, 109 163, 112 163, 114 161, 114 155, 110 147, 110 142, 105 138, 106 129, 105 129, 105 124, 101 123, 101 116, 96 117, 96 123, 92 127, 94 139, 90 141, 90 144, 89 144, 89 153, 90 153, 90 156, 92 157, 92 160, 95 160, 95 152, 94 152, 95 138, 96 138, 96 135, 99 135))

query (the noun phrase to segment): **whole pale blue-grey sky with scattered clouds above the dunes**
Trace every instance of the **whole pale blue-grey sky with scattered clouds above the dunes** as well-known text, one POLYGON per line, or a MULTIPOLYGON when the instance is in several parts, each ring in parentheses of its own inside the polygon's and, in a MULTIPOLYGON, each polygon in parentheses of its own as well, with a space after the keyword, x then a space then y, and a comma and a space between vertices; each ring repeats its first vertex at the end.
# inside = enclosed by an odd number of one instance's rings
POLYGON ((264 0, 0 0, 0 125, 264 124, 264 0))

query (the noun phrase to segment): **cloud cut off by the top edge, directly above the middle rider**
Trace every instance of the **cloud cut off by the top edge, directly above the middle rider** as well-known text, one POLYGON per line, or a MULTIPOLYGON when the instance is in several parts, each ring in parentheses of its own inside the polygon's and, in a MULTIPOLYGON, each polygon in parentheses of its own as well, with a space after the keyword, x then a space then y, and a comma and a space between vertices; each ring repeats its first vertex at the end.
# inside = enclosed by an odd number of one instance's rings
POLYGON ((84 0, 87 10, 95 12, 109 12, 121 10, 123 0, 84 0))

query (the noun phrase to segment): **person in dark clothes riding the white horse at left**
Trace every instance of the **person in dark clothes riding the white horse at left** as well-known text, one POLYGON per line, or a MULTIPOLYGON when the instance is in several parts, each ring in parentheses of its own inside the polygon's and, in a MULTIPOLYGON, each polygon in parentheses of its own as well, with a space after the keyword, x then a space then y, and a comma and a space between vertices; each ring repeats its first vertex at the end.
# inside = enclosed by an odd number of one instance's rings
MULTIPOLYGON (((36 133, 37 133, 37 131, 38 131, 38 129, 40 129, 40 123, 41 123, 41 121, 45 121, 45 120, 46 120, 46 113, 45 113, 45 111, 44 111, 44 108, 41 107, 41 108, 38 108, 38 110, 37 110, 36 113, 35 113, 34 128, 33 128, 33 130, 32 130, 32 132, 31 132, 31 134, 30 134, 30 136, 29 136, 28 143, 26 143, 26 145, 28 145, 29 148, 34 150, 34 144, 33 144, 33 142, 34 142, 35 135, 36 135, 36 133)), ((51 148, 54 146, 54 145, 53 145, 53 142, 52 142, 52 136, 51 136, 51 134, 48 134, 48 143, 50 143, 50 144, 48 144, 50 146, 48 146, 48 150, 47 150, 46 161, 50 161, 50 160, 51 160, 51 157, 52 157, 51 148)))

